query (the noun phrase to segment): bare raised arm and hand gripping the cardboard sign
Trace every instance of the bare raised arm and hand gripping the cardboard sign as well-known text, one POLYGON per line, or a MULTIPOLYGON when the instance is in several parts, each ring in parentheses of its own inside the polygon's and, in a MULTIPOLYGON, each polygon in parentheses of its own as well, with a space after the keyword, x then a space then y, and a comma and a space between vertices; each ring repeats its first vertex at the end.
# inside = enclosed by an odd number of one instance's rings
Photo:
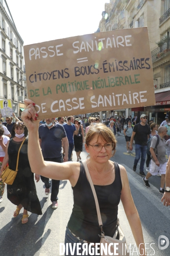
POLYGON ((35 103, 26 99, 25 104, 28 111, 23 111, 21 118, 28 128, 28 159, 31 171, 54 180, 70 180, 71 185, 75 186, 79 177, 80 164, 44 161, 38 139, 39 121, 36 121, 38 114, 34 109, 35 103))

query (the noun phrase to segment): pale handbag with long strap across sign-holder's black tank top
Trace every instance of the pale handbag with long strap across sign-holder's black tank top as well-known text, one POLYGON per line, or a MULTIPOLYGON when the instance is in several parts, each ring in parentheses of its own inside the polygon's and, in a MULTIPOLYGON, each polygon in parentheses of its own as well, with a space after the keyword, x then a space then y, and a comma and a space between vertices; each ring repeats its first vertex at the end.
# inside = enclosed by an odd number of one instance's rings
POLYGON ((82 164, 85 167, 85 172, 88 177, 88 181, 91 185, 91 189, 92 189, 92 192, 94 195, 94 200, 96 203, 97 217, 98 217, 98 221, 99 221, 99 227, 101 228, 101 236, 99 235, 99 237, 101 238, 100 239, 100 252, 101 252, 101 248, 102 248, 102 253, 103 253, 101 255, 109 256, 109 255, 111 255, 111 253, 113 253, 113 255, 129 256, 129 253, 127 251, 126 239, 125 239, 125 236, 124 236, 124 234, 120 228, 120 225, 119 225, 119 219, 117 219, 116 232, 114 233, 113 237, 105 236, 105 233, 102 228, 103 224, 102 224, 102 218, 101 218, 100 209, 99 209, 99 202, 97 200, 96 191, 94 188, 93 181, 91 179, 90 172, 88 170, 86 160, 82 161, 82 164), (119 236, 119 239, 116 239, 117 236, 119 236), (107 247, 107 250, 105 250, 106 247, 107 247), (108 252, 108 248, 109 248, 110 252, 108 252), (115 253, 118 253, 118 254, 115 254, 115 253))

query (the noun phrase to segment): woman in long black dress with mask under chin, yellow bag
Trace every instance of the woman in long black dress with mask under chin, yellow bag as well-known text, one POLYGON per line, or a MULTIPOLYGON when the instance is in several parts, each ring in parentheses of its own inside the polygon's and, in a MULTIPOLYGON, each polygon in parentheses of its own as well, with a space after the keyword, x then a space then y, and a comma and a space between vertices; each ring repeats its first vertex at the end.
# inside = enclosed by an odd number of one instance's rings
MULTIPOLYGON (((6 167, 16 170, 17 155, 21 143, 28 135, 28 129, 23 122, 16 122, 13 126, 11 134, 12 139, 6 144, 6 155, 4 157, 0 171, 6 167)), ((28 211, 42 215, 40 201, 37 197, 36 187, 34 183, 34 174, 28 161, 28 139, 26 139, 20 149, 18 172, 12 185, 7 185, 7 198, 12 204, 17 205, 14 211, 14 218, 20 213, 20 209, 24 208, 22 224, 28 222, 28 211)), ((40 175, 35 175, 37 182, 40 180, 40 175)))

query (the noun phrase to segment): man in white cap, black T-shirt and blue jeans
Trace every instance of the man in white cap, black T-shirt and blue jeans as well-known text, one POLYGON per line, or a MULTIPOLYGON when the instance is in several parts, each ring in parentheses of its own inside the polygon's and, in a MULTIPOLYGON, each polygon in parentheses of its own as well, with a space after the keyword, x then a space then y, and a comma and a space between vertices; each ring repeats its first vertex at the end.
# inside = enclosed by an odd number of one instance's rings
POLYGON ((139 162, 139 159, 141 158, 139 174, 142 175, 143 177, 146 177, 144 173, 144 162, 146 158, 147 140, 149 138, 149 134, 151 133, 151 131, 149 125, 147 125, 147 115, 142 114, 140 119, 141 122, 135 125, 135 127, 133 128, 129 149, 133 150, 134 139, 136 157, 133 164, 133 171, 136 172, 137 164, 139 162))

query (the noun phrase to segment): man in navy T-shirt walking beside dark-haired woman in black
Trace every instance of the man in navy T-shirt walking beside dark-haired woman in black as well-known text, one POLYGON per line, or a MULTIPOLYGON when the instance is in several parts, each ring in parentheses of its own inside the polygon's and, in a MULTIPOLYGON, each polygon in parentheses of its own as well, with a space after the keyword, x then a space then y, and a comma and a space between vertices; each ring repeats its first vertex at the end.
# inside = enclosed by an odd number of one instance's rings
POLYGON ((71 154, 73 152, 74 148, 74 134, 77 135, 79 133, 78 131, 78 125, 74 125, 74 117, 68 116, 67 123, 63 124, 63 127, 65 128, 65 132, 67 134, 68 138, 68 161, 71 160, 71 154))

